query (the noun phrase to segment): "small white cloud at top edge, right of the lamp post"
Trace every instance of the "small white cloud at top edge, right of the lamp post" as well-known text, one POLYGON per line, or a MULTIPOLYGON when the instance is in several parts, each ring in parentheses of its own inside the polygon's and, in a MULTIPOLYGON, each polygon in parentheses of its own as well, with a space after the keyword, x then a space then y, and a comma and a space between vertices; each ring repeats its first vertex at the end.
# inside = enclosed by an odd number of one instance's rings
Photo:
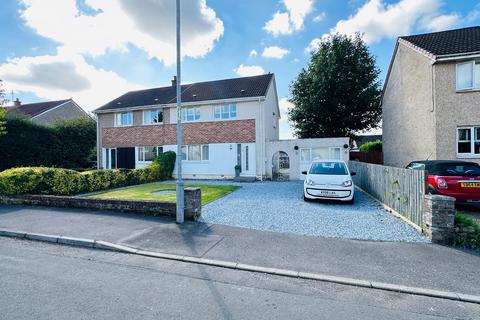
POLYGON ((264 29, 274 36, 292 34, 303 28, 305 17, 313 11, 313 0, 283 0, 286 11, 277 11, 264 29))

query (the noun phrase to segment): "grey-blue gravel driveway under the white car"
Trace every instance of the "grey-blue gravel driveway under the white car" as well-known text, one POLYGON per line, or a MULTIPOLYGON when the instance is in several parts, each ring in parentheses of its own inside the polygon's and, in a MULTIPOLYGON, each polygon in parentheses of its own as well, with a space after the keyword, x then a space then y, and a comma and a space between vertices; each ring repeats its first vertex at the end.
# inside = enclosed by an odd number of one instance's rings
POLYGON ((426 242, 413 227, 358 191, 355 204, 304 202, 302 181, 205 182, 241 188, 202 209, 201 221, 257 230, 351 239, 426 242))

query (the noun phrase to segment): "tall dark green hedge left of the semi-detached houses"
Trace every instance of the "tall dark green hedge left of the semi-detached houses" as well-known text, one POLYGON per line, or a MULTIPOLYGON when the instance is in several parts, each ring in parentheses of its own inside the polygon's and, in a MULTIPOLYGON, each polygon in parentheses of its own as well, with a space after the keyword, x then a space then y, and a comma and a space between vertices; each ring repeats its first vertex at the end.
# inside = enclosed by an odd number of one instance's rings
POLYGON ((96 123, 83 117, 43 126, 19 115, 5 118, 0 171, 13 167, 85 168, 96 144, 96 123))

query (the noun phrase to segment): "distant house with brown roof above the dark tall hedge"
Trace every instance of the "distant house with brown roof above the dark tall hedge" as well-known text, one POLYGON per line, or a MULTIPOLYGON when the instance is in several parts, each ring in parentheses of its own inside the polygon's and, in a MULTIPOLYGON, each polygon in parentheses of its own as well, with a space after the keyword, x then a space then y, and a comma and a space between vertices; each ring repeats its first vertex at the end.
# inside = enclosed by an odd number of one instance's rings
POLYGON ((53 125, 66 119, 89 117, 88 113, 72 99, 22 104, 17 98, 14 105, 6 109, 8 113, 26 115, 32 121, 43 125, 53 125))

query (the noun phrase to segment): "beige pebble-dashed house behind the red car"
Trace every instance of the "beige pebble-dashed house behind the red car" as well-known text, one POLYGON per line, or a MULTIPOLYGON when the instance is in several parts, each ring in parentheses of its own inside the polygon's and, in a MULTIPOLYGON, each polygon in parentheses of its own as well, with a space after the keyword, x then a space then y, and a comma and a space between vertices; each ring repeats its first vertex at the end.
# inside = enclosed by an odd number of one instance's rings
POLYGON ((385 164, 480 163, 480 27, 398 38, 382 108, 385 164))

